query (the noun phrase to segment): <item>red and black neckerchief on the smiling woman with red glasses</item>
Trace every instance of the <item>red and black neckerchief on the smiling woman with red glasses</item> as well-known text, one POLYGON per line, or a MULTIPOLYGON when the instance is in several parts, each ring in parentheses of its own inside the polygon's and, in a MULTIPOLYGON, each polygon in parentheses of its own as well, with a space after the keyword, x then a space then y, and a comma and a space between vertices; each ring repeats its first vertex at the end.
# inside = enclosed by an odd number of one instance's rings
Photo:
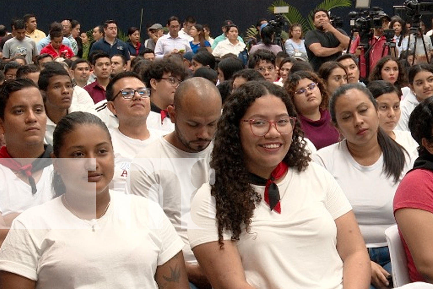
POLYGON ((265 185, 265 202, 272 210, 281 214, 280 191, 275 181, 281 179, 288 171, 289 166, 285 162, 280 162, 278 166, 271 172, 269 179, 264 179, 258 175, 250 173, 250 182, 254 185, 265 185))

